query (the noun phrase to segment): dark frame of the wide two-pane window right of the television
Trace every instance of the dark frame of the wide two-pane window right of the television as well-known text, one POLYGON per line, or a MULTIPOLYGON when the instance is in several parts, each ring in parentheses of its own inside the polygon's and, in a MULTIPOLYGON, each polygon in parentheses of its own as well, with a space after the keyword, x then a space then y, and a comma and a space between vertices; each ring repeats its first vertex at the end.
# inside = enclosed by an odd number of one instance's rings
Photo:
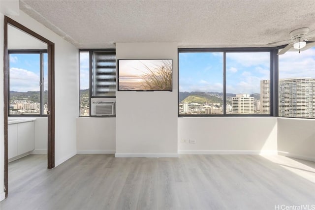
POLYGON ((276 117, 278 116, 278 50, 279 47, 250 47, 250 48, 178 48, 178 117, 276 117), (226 114, 226 53, 263 53, 270 55, 270 114, 226 114), (180 53, 223 53, 223 114, 180 114, 179 113, 179 54, 180 53), (275 91, 277 90, 277 91, 275 91), (275 109, 276 108, 276 109, 275 109))

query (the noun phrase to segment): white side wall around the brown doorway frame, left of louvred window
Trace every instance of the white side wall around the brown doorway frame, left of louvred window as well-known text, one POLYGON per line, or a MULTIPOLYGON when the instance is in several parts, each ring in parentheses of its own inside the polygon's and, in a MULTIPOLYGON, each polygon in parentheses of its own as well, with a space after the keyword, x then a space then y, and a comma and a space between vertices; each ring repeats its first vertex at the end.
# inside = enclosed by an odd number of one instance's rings
POLYGON ((78 49, 24 12, 9 16, 55 43, 55 166, 76 154, 78 49))

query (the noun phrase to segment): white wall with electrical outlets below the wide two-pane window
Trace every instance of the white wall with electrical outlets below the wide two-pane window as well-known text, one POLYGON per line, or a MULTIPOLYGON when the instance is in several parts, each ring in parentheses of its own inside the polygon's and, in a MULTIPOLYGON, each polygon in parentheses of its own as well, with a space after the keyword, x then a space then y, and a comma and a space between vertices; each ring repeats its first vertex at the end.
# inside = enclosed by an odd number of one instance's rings
POLYGON ((277 118, 178 118, 178 139, 179 153, 276 153, 277 118))

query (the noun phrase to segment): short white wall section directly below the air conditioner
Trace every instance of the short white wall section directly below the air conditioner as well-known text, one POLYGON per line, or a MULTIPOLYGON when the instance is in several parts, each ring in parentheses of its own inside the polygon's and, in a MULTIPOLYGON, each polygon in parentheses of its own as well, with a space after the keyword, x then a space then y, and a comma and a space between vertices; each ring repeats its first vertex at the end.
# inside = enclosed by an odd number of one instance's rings
POLYGON ((115 150, 115 117, 77 118, 77 153, 114 154, 115 150))

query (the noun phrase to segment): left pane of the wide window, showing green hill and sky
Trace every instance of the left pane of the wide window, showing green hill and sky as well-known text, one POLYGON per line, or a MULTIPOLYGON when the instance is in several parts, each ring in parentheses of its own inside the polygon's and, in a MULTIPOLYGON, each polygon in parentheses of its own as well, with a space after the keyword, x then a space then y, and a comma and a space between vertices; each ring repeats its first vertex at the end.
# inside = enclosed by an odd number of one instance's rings
POLYGON ((223 53, 179 53, 179 114, 223 114, 223 53))

